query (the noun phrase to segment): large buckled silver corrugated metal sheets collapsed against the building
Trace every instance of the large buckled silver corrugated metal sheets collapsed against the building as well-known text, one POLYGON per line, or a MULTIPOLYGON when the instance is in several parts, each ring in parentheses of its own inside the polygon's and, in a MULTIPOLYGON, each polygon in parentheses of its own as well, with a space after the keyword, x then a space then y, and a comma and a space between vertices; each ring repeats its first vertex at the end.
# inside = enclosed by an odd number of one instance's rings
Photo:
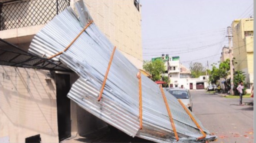
MULTIPOLYGON (((83 1, 76 2, 75 6, 79 17, 71 7, 66 8, 34 36, 29 51, 45 58, 63 51, 92 20, 83 1)), ((103 98, 97 101, 113 48, 114 45, 92 23, 67 51, 53 58, 80 76, 67 96, 83 109, 130 136, 154 142, 176 142, 160 88, 144 75, 143 128, 139 129, 139 84, 136 76, 139 70, 119 50, 114 53, 103 98)), ((177 99, 168 92, 165 94, 179 141, 202 142, 196 141, 202 134, 177 99)), ((209 131, 196 120, 208 134, 205 140, 214 139, 215 136, 209 136, 209 131)))

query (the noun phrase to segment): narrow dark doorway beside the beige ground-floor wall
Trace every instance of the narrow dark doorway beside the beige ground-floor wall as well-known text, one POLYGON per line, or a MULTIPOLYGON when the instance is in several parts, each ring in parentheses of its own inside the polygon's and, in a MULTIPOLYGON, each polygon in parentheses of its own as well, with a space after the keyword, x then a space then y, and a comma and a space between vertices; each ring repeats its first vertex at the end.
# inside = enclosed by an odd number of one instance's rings
POLYGON ((67 97, 69 90, 70 75, 56 74, 59 141, 71 136, 70 99, 67 97))

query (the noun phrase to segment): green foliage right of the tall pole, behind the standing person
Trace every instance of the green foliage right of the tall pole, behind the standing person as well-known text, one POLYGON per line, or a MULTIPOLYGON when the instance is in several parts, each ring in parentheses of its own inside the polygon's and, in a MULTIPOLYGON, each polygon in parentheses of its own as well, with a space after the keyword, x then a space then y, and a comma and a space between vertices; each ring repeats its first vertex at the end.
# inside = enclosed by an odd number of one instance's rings
POLYGON ((243 94, 246 94, 246 92, 245 92, 245 89, 246 89, 246 86, 245 86, 245 72, 243 72, 243 71, 236 71, 234 73, 234 81, 233 81, 233 83, 234 83, 233 90, 235 92, 235 95, 239 95, 239 93, 238 93, 236 88, 240 84, 240 81, 243 82, 244 87, 245 87, 245 88, 243 88, 243 94))

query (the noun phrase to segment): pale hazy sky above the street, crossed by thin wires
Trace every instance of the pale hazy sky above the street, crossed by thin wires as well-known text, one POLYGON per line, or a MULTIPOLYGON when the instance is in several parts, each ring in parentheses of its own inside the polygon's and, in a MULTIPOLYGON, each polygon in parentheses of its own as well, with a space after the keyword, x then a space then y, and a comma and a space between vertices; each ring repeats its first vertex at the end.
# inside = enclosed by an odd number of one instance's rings
POLYGON ((140 0, 143 60, 162 54, 206 66, 228 47, 227 27, 253 14, 253 0, 140 0))

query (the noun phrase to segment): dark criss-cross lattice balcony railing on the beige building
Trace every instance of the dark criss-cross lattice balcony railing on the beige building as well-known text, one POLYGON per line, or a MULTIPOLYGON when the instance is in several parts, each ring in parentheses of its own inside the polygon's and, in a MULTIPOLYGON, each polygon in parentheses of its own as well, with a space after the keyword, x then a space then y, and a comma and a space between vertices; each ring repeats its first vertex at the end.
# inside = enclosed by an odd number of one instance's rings
POLYGON ((46 24, 70 5, 70 0, 10 0, 0 2, 0 30, 46 24))

